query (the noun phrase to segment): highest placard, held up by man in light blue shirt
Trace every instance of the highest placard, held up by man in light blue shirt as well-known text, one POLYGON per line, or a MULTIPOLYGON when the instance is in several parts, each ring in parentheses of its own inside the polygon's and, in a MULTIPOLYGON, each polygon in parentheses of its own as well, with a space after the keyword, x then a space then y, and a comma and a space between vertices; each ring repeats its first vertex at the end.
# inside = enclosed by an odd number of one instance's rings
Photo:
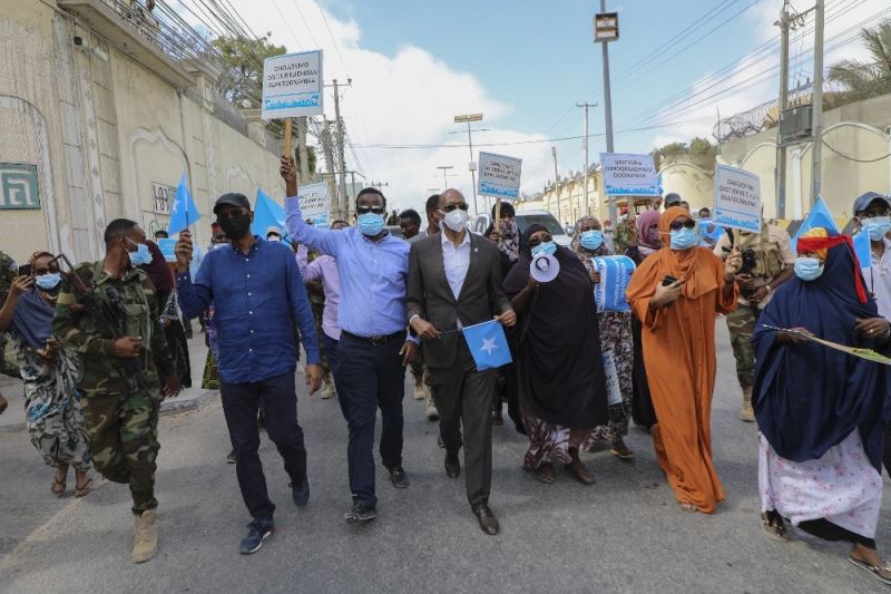
POLYGON ((324 113, 322 50, 266 58, 263 62, 263 119, 324 113))

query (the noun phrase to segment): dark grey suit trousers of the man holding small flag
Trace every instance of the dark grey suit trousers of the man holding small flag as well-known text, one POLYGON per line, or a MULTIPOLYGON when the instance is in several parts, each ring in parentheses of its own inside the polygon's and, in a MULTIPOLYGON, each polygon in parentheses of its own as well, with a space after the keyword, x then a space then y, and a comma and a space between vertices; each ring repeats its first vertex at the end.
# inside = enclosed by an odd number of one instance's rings
POLYGON ((490 412, 498 370, 477 371, 467 342, 459 340, 452 366, 432 368, 428 361, 428 372, 439 411, 440 435, 450 455, 457 455, 461 448, 463 420, 467 500, 472 507, 487 505, 492 487, 490 412))

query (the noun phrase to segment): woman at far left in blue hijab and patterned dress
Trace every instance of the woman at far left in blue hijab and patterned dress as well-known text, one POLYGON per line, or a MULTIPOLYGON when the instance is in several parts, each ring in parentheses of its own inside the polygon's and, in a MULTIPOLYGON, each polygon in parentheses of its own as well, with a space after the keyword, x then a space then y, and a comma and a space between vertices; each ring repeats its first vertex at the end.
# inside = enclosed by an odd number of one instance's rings
POLYGON ((10 332, 16 359, 25 380, 25 415, 31 444, 53 467, 52 493, 62 495, 68 467, 75 467, 75 496, 89 493, 90 455, 80 395, 77 359, 51 334, 56 295, 61 275, 52 254, 37 252, 29 269, 12 282, 0 309, 0 332, 10 332))

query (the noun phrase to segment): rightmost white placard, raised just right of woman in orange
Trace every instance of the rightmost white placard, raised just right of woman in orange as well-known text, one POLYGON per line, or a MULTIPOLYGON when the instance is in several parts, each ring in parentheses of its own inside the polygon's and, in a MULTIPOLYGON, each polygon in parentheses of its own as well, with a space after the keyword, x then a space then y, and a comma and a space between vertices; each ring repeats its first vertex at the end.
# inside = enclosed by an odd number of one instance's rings
POLYGON ((713 216, 723 227, 761 231, 761 178, 736 167, 715 165, 713 216))

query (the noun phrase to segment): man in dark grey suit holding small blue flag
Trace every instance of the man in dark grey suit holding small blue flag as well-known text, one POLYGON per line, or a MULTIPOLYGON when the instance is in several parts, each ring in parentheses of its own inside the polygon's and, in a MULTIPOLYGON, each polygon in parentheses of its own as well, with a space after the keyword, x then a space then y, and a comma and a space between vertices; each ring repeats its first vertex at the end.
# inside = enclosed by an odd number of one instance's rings
POLYGON ((409 324, 423 339, 424 362, 446 444, 446 474, 461 473, 463 419, 467 498, 486 534, 499 532, 489 509, 492 478, 492 396, 497 370, 478 371, 460 329, 492 320, 517 321, 501 288, 498 246, 467 228, 468 204, 457 189, 440 195, 441 234, 411 246, 407 285, 409 324))

